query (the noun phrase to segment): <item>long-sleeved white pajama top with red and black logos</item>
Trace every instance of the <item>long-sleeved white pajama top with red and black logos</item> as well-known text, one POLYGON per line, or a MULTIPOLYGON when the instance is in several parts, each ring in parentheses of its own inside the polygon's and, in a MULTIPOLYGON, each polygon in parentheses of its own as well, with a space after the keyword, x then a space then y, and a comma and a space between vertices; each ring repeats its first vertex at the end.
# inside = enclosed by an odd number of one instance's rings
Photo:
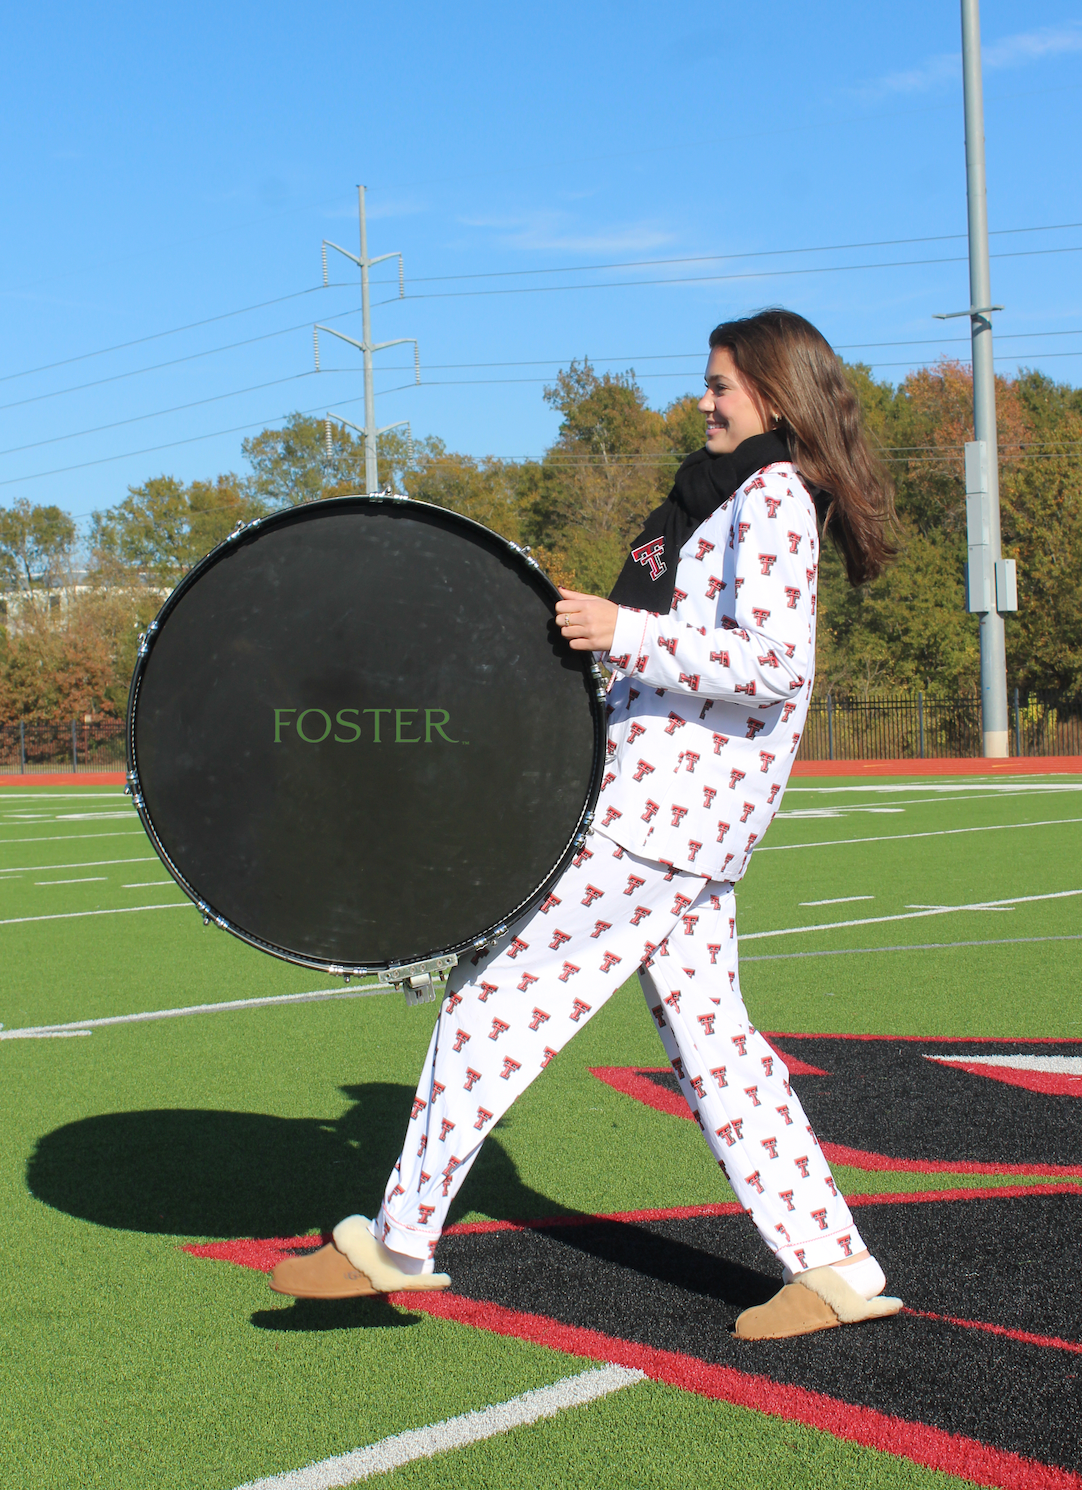
POLYGON ((738 881, 788 779, 815 672, 815 507, 763 466, 680 550, 668 615, 620 606, 595 828, 738 881))

